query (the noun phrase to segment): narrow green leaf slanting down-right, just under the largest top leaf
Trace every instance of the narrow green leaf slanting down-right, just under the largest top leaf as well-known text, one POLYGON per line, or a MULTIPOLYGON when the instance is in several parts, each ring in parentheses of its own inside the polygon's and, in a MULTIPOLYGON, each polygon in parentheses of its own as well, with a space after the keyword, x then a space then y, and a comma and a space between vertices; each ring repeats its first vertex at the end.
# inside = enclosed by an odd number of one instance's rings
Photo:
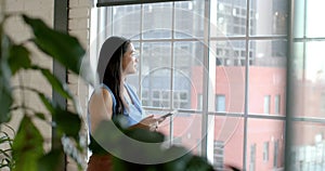
POLYGON ((68 90, 66 83, 61 82, 49 69, 32 66, 32 69, 40 70, 41 74, 47 78, 52 88, 60 93, 63 97, 73 100, 73 95, 68 90))

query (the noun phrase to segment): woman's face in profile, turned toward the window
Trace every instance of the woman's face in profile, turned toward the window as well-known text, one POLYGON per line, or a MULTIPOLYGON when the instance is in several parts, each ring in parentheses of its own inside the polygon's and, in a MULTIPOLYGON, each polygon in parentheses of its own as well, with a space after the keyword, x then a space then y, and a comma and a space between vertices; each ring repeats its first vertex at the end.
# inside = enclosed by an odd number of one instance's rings
POLYGON ((123 75, 130 75, 136 73, 138 58, 135 55, 135 49, 132 43, 129 44, 128 51, 122 57, 122 73, 123 75))

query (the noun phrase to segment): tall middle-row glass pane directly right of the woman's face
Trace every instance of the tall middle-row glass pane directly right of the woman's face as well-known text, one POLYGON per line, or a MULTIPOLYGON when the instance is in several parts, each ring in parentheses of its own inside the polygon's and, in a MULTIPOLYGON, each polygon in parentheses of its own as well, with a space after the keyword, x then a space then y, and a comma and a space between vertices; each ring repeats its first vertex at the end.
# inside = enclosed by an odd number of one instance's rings
POLYGON ((143 100, 143 105, 151 107, 169 108, 171 87, 171 43, 151 42, 142 44, 141 58, 141 88, 148 93, 148 98, 143 100))

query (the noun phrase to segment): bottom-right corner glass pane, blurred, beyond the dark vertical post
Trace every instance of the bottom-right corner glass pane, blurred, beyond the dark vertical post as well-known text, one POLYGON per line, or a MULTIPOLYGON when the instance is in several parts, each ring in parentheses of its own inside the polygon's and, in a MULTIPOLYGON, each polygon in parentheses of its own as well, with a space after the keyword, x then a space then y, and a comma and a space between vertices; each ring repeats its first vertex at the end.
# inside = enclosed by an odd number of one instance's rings
POLYGON ((291 149, 294 170, 316 170, 325 168, 325 127, 317 122, 294 122, 295 139, 291 149))

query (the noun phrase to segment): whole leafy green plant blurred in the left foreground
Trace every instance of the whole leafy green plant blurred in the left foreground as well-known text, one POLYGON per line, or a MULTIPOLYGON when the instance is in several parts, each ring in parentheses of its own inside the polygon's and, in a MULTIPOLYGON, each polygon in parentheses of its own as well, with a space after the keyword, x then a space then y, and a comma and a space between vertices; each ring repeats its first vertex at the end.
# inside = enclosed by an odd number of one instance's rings
POLYGON ((32 42, 41 52, 47 54, 44 57, 60 62, 75 75, 79 75, 84 49, 75 37, 48 27, 39 18, 24 14, 18 16, 32 30, 32 37, 23 43, 15 43, 4 31, 5 21, 12 15, 3 15, 0 21, 0 124, 2 133, 0 144, 8 146, 6 149, 0 150, 2 156, 0 168, 8 167, 10 170, 20 171, 55 170, 66 154, 77 161, 81 170, 83 161, 78 158, 78 154, 82 154, 87 147, 80 143, 81 118, 77 113, 78 103, 76 103, 65 82, 61 82, 48 68, 31 63, 30 50, 25 44, 32 42), (12 77, 25 70, 40 73, 43 79, 52 86, 53 91, 66 100, 73 101, 75 109, 62 108, 37 89, 24 84, 12 86, 12 77), (13 92, 17 90, 35 93, 46 107, 46 111, 39 111, 37 108, 27 106, 24 100, 22 102, 16 101, 13 92), (23 117, 14 137, 10 137, 3 131, 3 126, 11 121, 16 110, 22 111, 23 117), (52 120, 46 118, 46 113, 51 114, 52 120), (53 141, 58 142, 58 145, 52 146, 50 152, 43 149, 44 139, 32 121, 35 119, 49 123, 56 132, 57 136, 53 137, 53 141))

